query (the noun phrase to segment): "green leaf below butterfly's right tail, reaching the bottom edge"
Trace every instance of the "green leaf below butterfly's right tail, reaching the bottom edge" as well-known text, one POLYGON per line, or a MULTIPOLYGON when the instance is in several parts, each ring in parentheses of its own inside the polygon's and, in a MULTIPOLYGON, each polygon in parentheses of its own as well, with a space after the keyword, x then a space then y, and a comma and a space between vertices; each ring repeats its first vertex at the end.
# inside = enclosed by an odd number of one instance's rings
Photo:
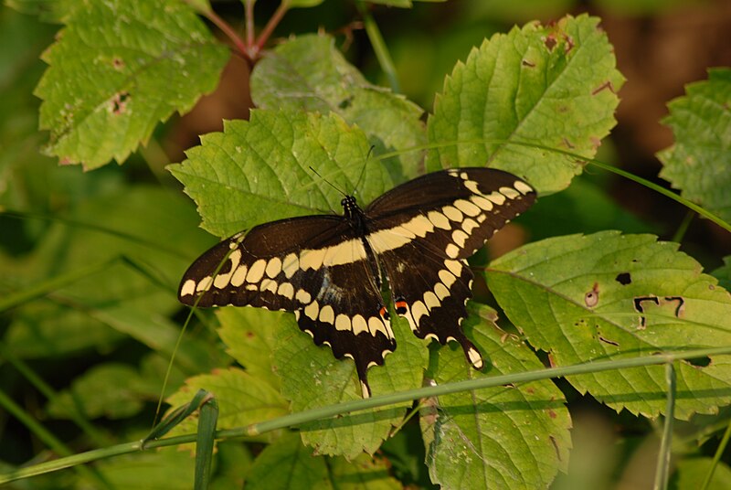
MULTIPOLYGON (((491 309, 476 309, 494 322, 491 309)), ((488 371, 469 367, 458 346, 442 347, 432 364, 436 383, 541 368, 523 342, 485 324, 476 315, 462 323, 489 359, 488 371)), ((550 381, 427 399, 420 413, 429 474, 445 488, 545 488, 567 468, 571 420, 550 381)))

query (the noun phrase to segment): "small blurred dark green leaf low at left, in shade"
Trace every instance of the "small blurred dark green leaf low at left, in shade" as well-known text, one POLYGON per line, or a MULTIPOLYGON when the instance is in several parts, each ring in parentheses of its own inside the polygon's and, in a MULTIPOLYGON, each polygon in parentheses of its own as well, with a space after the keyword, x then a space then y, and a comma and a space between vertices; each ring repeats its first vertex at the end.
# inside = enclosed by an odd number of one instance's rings
POLYGON ((76 405, 90 419, 132 417, 143 408, 143 399, 135 389, 139 378, 136 369, 124 364, 90 368, 74 379, 69 390, 50 400, 48 414, 57 419, 68 418, 70 408, 76 405))

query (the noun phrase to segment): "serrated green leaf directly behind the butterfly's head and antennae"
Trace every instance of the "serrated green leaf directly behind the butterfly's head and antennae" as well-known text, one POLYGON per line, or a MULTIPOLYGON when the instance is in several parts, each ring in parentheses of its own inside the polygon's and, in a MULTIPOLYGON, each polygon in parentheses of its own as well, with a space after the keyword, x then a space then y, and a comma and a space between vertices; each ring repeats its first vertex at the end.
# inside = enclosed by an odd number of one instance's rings
POLYGON ((361 204, 392 186, 381 165, 364 168, 365 134, 335 114, 252 111, 249 122, 226 122, 201 142, 169 168, 196 201, 203 228, 221 238, 278 218, 341 213, 343 196, 332 186, 356 190, 361 204))

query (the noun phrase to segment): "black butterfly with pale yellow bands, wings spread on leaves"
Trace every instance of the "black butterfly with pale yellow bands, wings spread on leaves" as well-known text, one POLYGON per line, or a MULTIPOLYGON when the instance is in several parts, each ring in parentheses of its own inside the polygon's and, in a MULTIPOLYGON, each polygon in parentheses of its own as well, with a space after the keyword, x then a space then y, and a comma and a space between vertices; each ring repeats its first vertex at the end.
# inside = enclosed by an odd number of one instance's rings
POLYGON ((382 286, 419 338, 457 341, 482 369, 461 322, 471 298, 467 259, 535 202, 535 190, 501 170, 471 167, 420 176, 365 209, 264 223, 207 250, 180 282, 183 304, 234 304, 293 312, 317 346, 350 357, 364 398, 366 373, 396 349, 382 286))

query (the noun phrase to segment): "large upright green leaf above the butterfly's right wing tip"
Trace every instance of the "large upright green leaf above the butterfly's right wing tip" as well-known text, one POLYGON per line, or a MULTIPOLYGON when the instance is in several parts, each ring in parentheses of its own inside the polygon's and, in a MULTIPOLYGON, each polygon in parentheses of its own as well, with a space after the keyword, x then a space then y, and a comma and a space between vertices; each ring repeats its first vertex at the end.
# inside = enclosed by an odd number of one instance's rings
POLYGON ((429 117, 428 168, 489 165, 524 176, 541 195, 568 186, 614 126, 623 78, 599 18, 567 16, 496 34, 444 82, 429 117), (496 141, 498 140, 498 141, 496 141), (514 144, 522 143, 522 144, 514 144))

